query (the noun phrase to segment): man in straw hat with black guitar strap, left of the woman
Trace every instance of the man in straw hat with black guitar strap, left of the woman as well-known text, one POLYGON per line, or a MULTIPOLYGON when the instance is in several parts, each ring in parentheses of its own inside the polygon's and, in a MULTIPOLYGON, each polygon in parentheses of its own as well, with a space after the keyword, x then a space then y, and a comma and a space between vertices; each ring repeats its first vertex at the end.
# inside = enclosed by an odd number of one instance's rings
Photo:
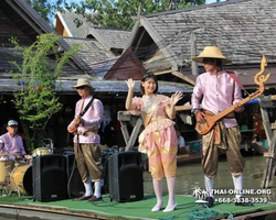
POLYGON ((75 134, 75 158, 85 187, 85 194, 75 200, 97 201, 102 200, 103 166, 98 129, 104 107, 100 100, 92 96, 95 89, 91 86, 89 80, 78 79, 76 86, 72 88, 77 91, 82 99, 76 102, 75 119, 68 124, 67 131, 75 134), (92 182, 95 186, 94 194, 92 182))

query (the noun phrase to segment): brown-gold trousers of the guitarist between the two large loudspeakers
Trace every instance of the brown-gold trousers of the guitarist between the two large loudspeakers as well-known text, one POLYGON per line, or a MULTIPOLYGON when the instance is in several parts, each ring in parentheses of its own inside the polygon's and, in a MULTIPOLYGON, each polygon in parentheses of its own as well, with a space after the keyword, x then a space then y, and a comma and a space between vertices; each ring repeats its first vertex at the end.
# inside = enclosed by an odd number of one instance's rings
POLYGON ((75 158, 82 180, 91 176, 92 182, 99 182, 103 177, 102 152, 99 144, 74 143, 75 158))

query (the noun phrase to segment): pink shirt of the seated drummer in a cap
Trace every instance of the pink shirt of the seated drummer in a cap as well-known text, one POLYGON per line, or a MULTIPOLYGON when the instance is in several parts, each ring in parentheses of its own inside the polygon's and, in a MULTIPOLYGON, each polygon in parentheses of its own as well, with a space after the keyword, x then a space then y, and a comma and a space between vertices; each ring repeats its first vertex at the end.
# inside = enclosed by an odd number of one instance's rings
MULTIPOLYGON (((25 150, 20 135, 11 136, 9 132, 0 136, 0 153, 25 155, 25 150)), ((15 156, 0 156, 0 161, 14 160, 15 156)))

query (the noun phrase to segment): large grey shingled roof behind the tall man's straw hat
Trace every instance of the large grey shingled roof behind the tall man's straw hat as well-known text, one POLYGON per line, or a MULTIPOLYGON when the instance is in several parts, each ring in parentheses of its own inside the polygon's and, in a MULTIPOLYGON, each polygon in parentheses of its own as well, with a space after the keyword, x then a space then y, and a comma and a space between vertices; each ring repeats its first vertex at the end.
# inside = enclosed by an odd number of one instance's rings
MULTIPOLYGON (((268 66, 276 65, 275 37, 275 0, 231 0, 140 16, 127 47, 139 48, 138 56, 148 62, 151 69, 158 69, 158 59, 151 63, 150 55, 159 50, 163 55, 159 55, 162 69, 181 70, 191 67, 192 57, 204 46, 217 45, 223 55, 232 59, 226 68, 242 69, 245 76, 244 69, 248 73, 258 69, 263 55, 268 66), (195 54, 191 54, 192 34, 197 38, 195 54), (153 44, 157 48, 152 50, 153 44)), ((184 74, 191 75, 191 70, 184 74)), ((245 79, 245 84, 248 81, 245 79)))

